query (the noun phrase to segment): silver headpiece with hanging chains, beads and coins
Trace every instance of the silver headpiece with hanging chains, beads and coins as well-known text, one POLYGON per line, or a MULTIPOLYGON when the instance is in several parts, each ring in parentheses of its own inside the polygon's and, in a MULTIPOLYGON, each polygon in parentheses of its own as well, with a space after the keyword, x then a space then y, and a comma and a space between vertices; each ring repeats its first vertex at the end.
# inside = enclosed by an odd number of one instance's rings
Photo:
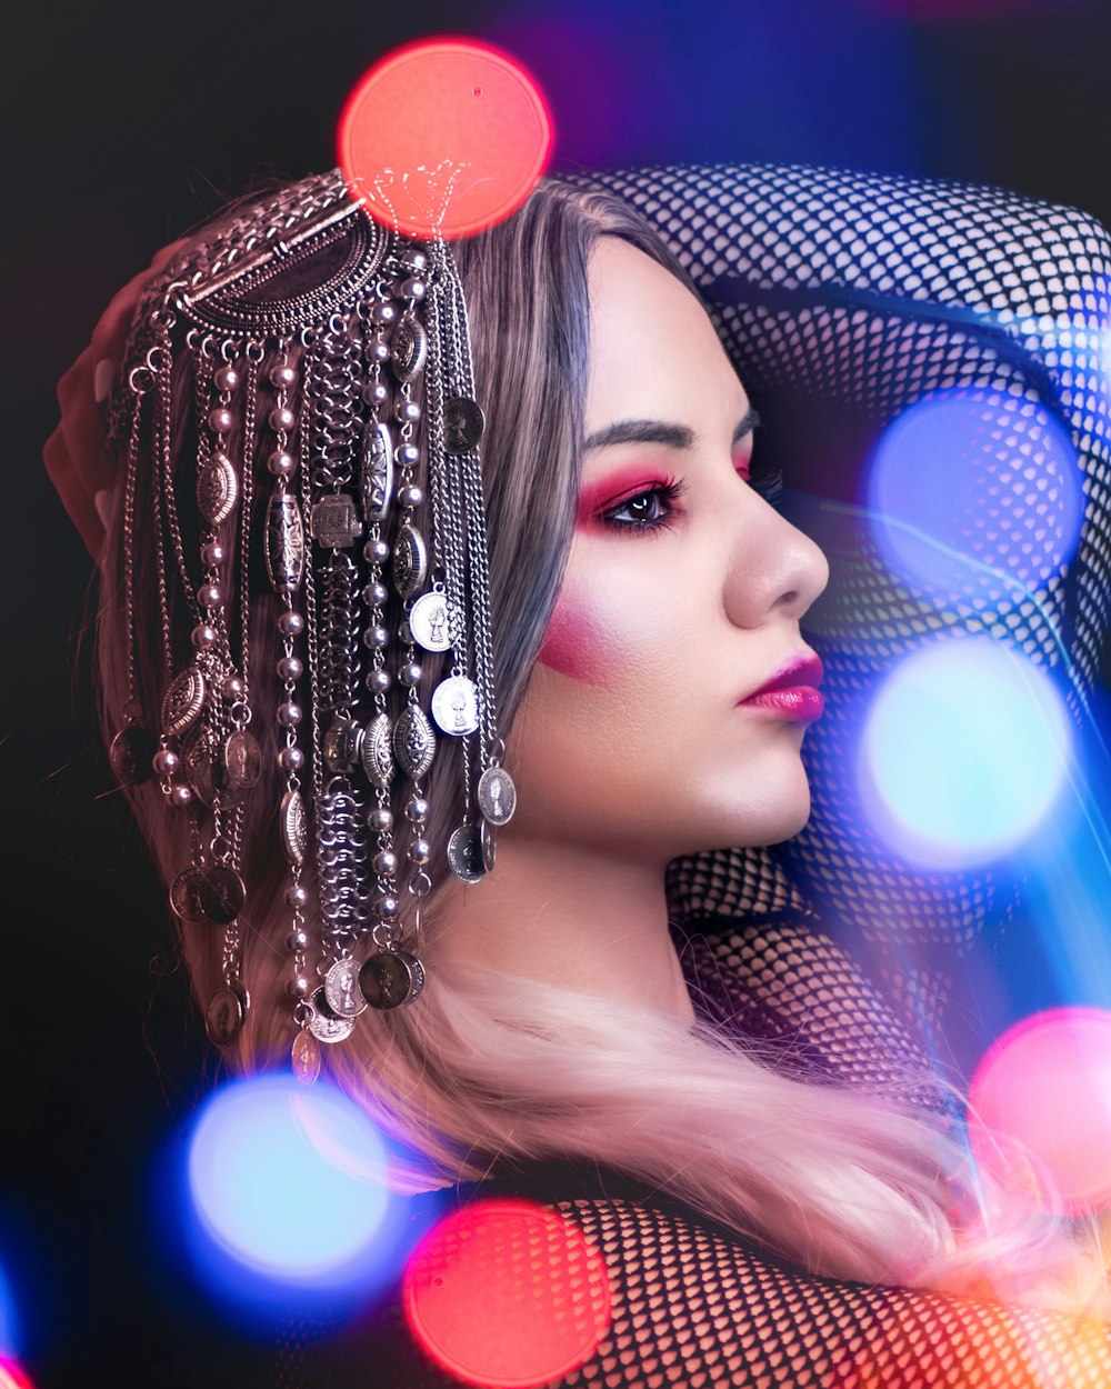
POLYGON ((236 211, 144 294, 111 432, 126 461, 129 643, 112 767, 122 782, 153 772, 189 818, 192 856, 169 896, 219 940, 206 1014, 218 1045, 250 1006, 244 835, 271 822, 289 865, 293 1061, 310 1081, 318 1042, 346 1038, 368 1006, 419 996, 421 899, 442 861, 471 882, 487 872, 494 826, 514 810, 496 724, 483 415, 449 247, 371 221, 339 171, 236 211), (160 708, 139 689, 136 650, 153 635, 136 629, 137 583, 158 592, 160 708), (276 613, 262 650, 258 589, 276 613), (425 653, 443 672, 435 688, 425 653), (458 749, 464 810, 432 845, 424 782, 440 735, 458 749), (260 810, 268 758, 279 792, 260 810))

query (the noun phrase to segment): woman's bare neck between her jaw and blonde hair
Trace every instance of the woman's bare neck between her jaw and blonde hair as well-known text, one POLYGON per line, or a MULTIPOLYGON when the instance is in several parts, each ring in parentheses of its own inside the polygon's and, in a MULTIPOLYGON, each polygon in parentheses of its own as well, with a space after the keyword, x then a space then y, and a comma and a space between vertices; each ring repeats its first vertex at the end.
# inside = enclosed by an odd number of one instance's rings
POLYGON ((665 868, 612 846, 503 832, 492 874, 469 885, 453 878, 436 895, 436 956, 693 1020, 668 932, 665 868))

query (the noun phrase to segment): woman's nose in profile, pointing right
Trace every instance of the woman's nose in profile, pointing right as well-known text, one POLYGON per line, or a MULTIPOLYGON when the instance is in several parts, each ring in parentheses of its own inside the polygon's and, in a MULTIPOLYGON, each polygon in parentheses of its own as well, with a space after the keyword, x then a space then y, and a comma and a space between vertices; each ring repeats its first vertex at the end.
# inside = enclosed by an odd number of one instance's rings
POLYGON ((749 493, 735 519, 725 606, 737 626, 772 615, 799 621, 829 582, 822 550, 762 497, 749 493))

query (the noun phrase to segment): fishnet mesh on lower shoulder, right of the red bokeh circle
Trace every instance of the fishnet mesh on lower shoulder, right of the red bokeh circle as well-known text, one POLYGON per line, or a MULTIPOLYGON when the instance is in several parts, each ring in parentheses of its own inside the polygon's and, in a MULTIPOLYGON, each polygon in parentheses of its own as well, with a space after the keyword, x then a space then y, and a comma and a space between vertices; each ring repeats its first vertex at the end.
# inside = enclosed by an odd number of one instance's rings
POLYGON ((1111 1382, 1104 1328, 789 1271, 676 1213, 561 1201, 605 1256, 612 1324, 572 1386, 997 1389, 1111 1382))

